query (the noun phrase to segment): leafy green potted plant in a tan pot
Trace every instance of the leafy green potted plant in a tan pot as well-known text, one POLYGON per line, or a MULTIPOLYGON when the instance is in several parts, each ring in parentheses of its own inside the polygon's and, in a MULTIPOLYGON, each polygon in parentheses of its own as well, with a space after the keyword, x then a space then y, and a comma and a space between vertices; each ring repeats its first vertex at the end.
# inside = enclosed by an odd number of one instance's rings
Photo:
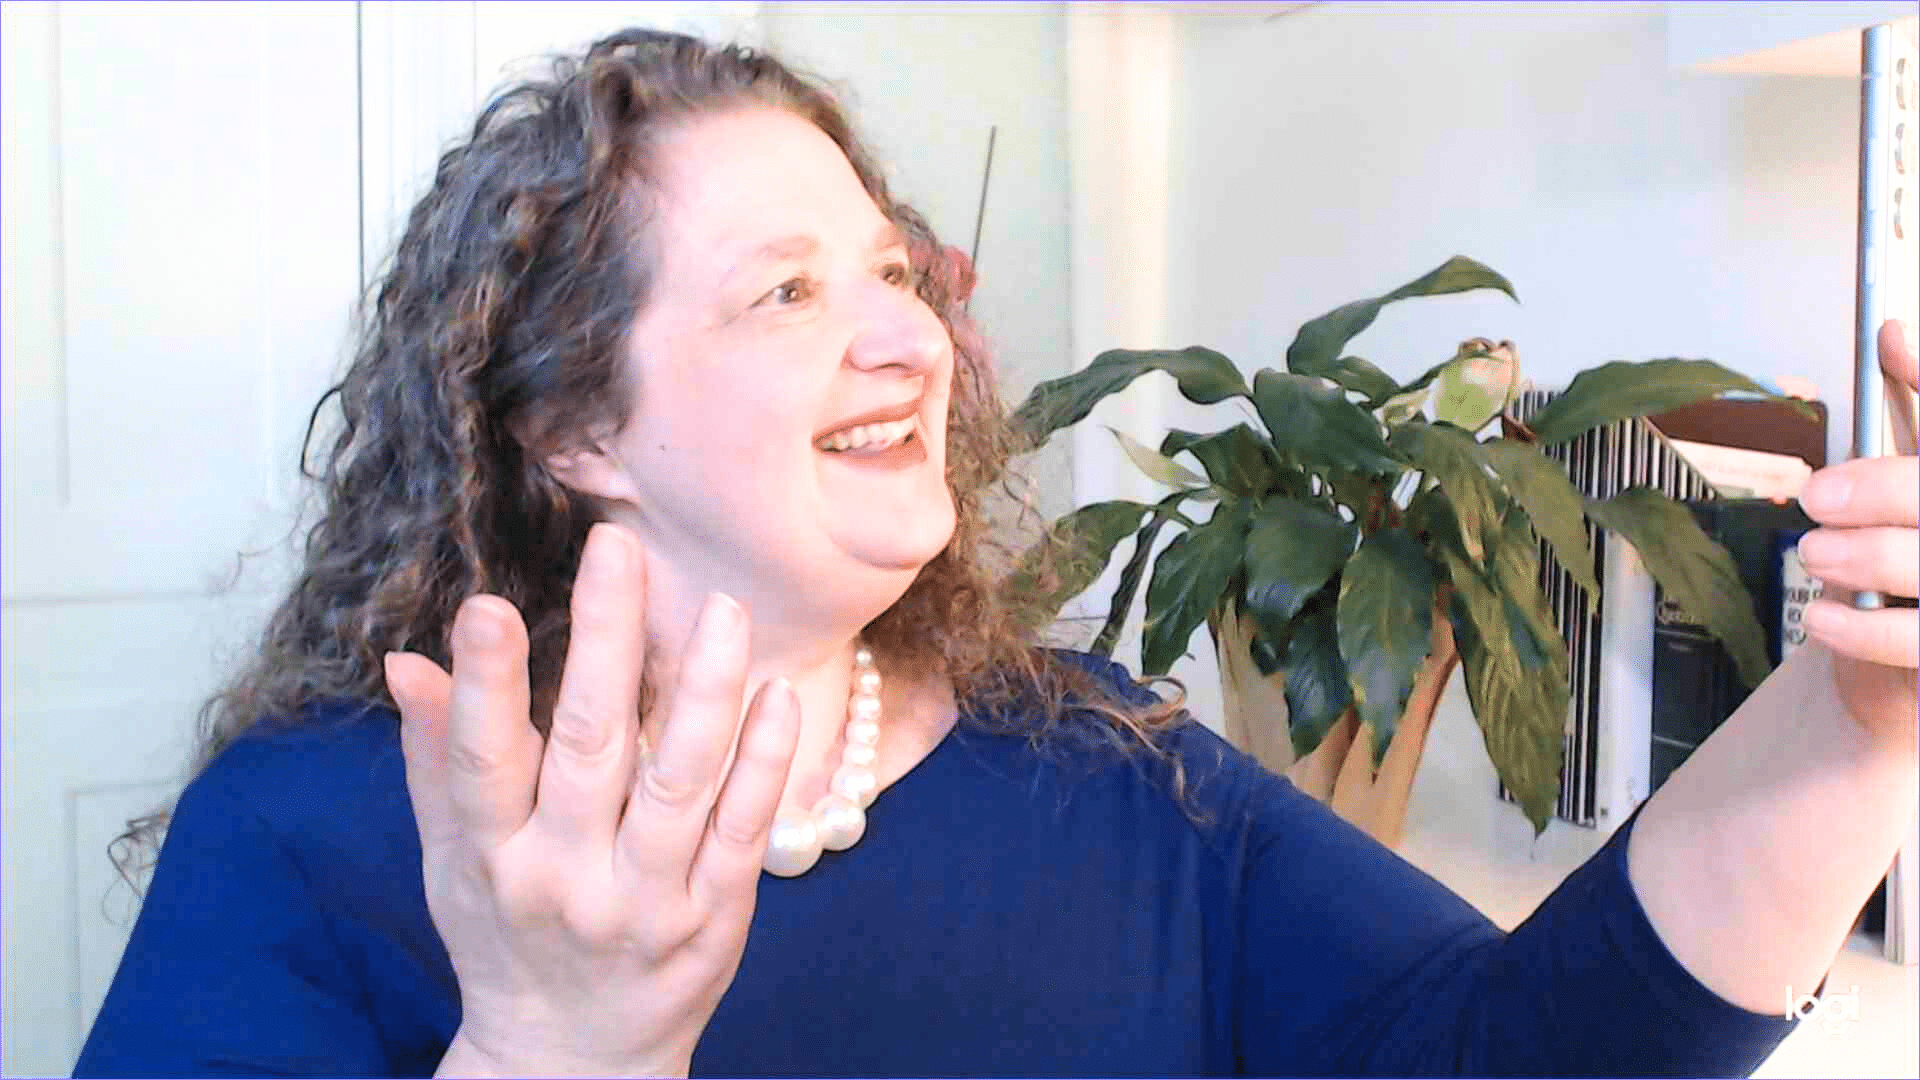
POLYGON ((1388 846, 1455 665, 1494 769, 1534 832, 1546 830, 1569 684, 1536 536, 1597 596, 1584 521, 1619 532, 1667 596, 1728 646, 1743 680, 1768 671, 1732 555, 1686 507, 1651 488, 1586 498, 1540 448, 1726 392, 1772 394, 1705 359, 1617 361, 1580 373, 1519 423, 1509 405, 1521 375, 1505 342, 1469 340, 1405 384, 1346 352, 1386 304, 1480 288, 1515 296, 1501 275, 1453 258, 1306 323, 1286 369, 1252 384, 1200 346, 1112 350, 1043 382, 1016 413, 1039 448, 1148 371, 1171 375, 1196 404, 1252 404, 1260 427, 1169 430, 1158 450, 1116 432, 1169 494, 1075 509, 1046 540, 1056 559, 1031 552, 1010 584, 1041 590, 1058 613, 1131 536, 1092 651, 1112 655, 1144 580, 1140 673, 1164 675, 1206 623, 1227 738, 1388 846), (1179 534, 1154 555, 1167 528, 1179 534))

